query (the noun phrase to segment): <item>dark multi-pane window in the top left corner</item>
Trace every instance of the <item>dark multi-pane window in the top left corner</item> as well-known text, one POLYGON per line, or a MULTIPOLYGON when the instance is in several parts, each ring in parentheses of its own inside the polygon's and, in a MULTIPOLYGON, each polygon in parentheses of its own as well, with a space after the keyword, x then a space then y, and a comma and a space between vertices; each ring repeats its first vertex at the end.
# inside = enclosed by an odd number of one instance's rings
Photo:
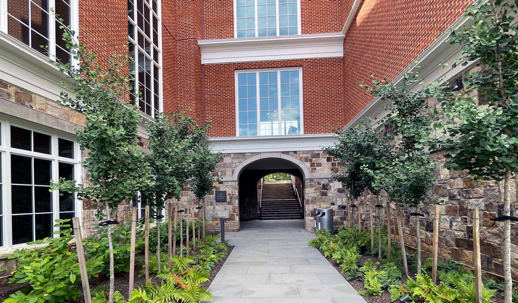
POLYGON ((70 53, 63 41, 63 29, 54 13, 70 26, 77 0, 7 0, 7 9, 0 11, 0 30, 27 44, 36 51, 61 60, 70 61, 70 53))

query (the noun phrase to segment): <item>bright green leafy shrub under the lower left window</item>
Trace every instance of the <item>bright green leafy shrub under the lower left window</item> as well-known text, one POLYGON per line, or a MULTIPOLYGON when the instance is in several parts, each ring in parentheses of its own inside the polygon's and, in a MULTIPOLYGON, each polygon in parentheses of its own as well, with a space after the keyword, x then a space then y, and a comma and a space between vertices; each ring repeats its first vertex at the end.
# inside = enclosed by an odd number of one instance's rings
MULTIPOLYGON (((16 270, 12 271, 9 283, 28 283, 26 290, 17 291, 4 303, 41 303, 67 302, 74 300, 81 291, 77 287, 80 281, 77 253, 68 242, 73 239, 68 220, 56 220, 55 226, 61 229, 61 237, 45 238, 28 244, 47 244, 36 249, 15 250, 6 254, 8 259, 18 261, 16 270)), ((103 259, 92 256, 87 260, 89 277, 97 277, 103 268, 103 259)))

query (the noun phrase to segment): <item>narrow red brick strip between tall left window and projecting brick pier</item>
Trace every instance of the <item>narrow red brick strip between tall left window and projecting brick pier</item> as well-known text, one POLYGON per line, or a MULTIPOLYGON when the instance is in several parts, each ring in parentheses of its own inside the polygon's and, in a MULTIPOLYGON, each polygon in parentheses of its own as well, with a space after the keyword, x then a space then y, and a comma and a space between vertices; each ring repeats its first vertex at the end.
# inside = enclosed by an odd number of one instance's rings
POLYGON ((164 112, 178 108, 176 92, 176 38, 174 0, 162 0, 162 82, 164 112))

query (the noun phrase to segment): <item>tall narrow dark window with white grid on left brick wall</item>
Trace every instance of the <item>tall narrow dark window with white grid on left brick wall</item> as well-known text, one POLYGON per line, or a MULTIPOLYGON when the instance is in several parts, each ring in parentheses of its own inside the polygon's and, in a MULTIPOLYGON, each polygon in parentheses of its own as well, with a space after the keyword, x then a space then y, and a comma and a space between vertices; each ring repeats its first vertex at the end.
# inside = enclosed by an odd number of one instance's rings
POLYGON ((162 111, 162 23, 159 0, 128 0, 131 100, 154 117, 162 111))

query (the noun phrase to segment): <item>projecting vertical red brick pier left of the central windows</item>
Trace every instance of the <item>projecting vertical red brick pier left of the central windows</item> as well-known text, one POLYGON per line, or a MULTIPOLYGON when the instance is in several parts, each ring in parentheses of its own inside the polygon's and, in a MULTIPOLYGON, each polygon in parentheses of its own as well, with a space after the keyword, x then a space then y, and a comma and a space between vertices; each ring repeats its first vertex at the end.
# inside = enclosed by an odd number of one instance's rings
MULTIPOLYGON (((199 0, 176 0, 176 81, 178 110, 203 120, 202 58, 198 40, 202 34, 199 0)), ((167 56, 167 55, 166 55, 167 56)))

